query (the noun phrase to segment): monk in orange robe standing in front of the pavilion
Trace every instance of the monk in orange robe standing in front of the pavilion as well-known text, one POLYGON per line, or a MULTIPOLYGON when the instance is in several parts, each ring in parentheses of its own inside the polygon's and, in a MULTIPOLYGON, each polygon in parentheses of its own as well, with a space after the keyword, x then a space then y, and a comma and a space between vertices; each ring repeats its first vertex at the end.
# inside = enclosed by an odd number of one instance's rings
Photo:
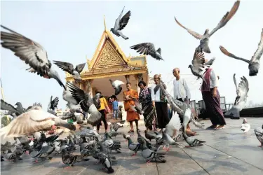
POLYGON ((138 92, 136 90, 131 89, 131 83, 126 83, 127 90, 123 92, 123 104, 124 110, 127 112, 127 121, 130 123, 130 132, 134 132, 133 130, 133 121, 135 121, 137 132, 140 132, 138 127, 138 120, 140 120, 140 116, 137 112, 133 111, 130 108, 130 105, 134 105, 134 100, 137 100, 138 92))

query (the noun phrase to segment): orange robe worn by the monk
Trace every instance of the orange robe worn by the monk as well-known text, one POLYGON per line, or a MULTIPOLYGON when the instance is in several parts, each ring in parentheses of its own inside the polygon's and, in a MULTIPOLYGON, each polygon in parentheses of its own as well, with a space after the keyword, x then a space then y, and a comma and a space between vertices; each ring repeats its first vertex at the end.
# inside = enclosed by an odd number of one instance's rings
MULTIPOLYGON (((123 92, 124 99, 126 99, 126 96, 130 95, 130 97, 135 97, 135 99, 139 99, 138 92, 136 90, 126 90, 123 92)), ((123 102, 124 104, 124 109, 127 112, 127 118, 126 120, 128 122, 132 122, 135 120, 140 120, 140 116, 137 112, 133 111, 130 109, 130 105, 134 105, 133 99, 129 99, 127 101, 123 102)))

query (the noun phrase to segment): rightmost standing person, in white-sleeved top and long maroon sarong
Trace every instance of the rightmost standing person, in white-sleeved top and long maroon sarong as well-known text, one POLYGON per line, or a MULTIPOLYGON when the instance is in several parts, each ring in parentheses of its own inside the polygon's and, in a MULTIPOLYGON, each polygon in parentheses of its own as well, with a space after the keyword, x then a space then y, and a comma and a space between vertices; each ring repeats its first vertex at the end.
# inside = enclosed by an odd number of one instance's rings
MULTIPOLYGON (((205 63, 208 59, 205 59, 205 63)), ((224 114, 220 107, 220 93, 217 90, 218 77, 212 68, 207 69, 204 75, 204 80, 201 85, 201 92, 203 101, 205 102, 205 109, 208 111, 212 126, 207 129, 223 129, 224 125, 227 125, 224 120, 224 114), (217 125, 219 125, 217 127, 217 125)))

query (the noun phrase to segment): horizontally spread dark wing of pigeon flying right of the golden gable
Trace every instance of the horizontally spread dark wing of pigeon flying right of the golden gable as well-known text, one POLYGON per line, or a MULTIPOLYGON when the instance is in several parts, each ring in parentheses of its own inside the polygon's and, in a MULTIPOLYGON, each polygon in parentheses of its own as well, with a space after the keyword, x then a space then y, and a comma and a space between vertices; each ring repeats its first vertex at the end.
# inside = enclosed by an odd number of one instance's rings
POLYGON ((130 48, 137 50, 137 52, 140 52, 140 54, 156 57, 156 50, 153 43, 140 43, 133 45, 130 48))

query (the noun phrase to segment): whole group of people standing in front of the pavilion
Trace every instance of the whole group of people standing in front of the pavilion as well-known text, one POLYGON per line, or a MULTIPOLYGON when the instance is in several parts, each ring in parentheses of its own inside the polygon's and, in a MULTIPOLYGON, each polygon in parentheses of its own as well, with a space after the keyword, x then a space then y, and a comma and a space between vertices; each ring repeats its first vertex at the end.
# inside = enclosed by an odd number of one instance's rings
MULTIPOLYGON (((207 60, 205 60, 207 62, 207 60)), ((187 81, 180 77, 180 69, 173 69, 173 75, 175 80, 173 81, 173 97, 180 102, 185 102, 189 105, 191 99, 191 92, 187 85, 187 81)), ((224 128, 226 122, 224 120, 224 115, 220 107, 220 93, 218 91, 218 80, 219 77, 216 75, 212 68, 206 70, 204 74, 203 83, 201 83, 201 93, 203 101, 205 102, 206 113, 210 117, 212 125, 208 127, 208 130, 220 130, 224 128)), ((152 87, 147 87, 147 83, 141 80, 138 83, 140 87, 140 92, 133 90, 131 88, 131 83, 126 83, 127 90, 123 91, 123 106, 124 111, 127 113, 126 120, 130 123, 130 130, 128 133, 134 132, 133 122, 135 122, 136 131, 140 132, 138 121, 140 120, 140 115, 131 108, 135 105, 135 101, 140 102, 142 106, 144 125, 147 131, 161 130, 166 127, 169 123, 170 118, 173 116, 173 112, 170 105, 167 102, 166 95, 159 85, 160 76, 158 74, 154 75, 154 85, 152 87)), ((96 92, 101 93, 101 92, 96 92)), ((106 116, 111 110, 113 111, 113 120, 118 119, 119 113, 119 102, 115 95, 108 98, 109 106, 107 105, 106 99, 102 96, 100 98, 101 106, 100 113, 102 113, 102 122, 104 123, 105 130, 107 131, 106 116)), ((196 115, 195 109, 192 109, 194 115, 196 115)), ((180 123, 183 123, 182 116, 180 117, 180 123)), ((97 125, 97 132, 100 130, 100 125, 97 125)), ((191 131, 190 125, 187 125, 187 134, 189 136, 196 135, 196 132, 191 131)), ((175 133, 174 133, 175 136, 175 133)))

